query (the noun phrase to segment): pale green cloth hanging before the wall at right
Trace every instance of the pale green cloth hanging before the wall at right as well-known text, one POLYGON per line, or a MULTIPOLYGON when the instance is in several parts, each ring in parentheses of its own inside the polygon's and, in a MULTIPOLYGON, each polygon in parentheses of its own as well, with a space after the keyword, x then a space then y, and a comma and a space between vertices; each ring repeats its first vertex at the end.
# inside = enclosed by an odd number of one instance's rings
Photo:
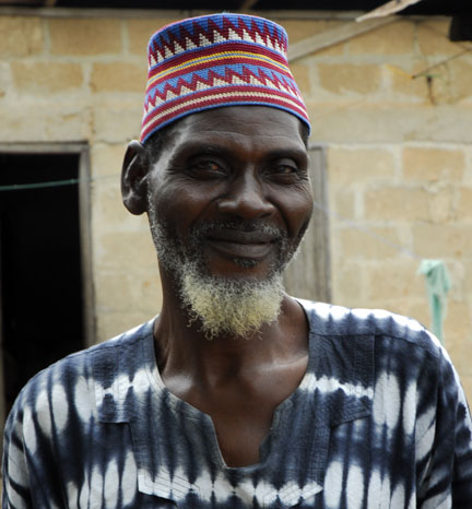
POLYGON ((426 292, 432 313, 432 330, 444 343, 442 320, 446 316, 447 293, 451 287, 446 265, 440 260, 423 260, 418 269, 426 279, 426 292))

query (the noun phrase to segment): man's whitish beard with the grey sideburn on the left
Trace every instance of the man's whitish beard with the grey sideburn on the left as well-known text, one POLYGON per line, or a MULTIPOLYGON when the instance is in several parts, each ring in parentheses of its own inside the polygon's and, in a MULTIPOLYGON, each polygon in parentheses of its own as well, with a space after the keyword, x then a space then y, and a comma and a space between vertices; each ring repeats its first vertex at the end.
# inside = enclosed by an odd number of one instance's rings
POLYGON ((288 260, 262 281, 211 275, 198 242, 191 245, 190 240, 190 249, 182 246, 169 228, 156 220, 151 200, 149 206, 151 234, 161 265, 176 280, 190 323, 200 320, 209 340, 220 334, 249 338, 278 318, 284 289, 282 272, 288 260))

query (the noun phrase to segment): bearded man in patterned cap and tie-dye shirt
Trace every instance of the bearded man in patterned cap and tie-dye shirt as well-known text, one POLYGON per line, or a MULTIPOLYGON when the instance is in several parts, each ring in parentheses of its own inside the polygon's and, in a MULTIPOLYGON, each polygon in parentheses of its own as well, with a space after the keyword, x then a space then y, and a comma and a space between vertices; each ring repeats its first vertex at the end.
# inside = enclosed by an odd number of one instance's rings
POLYGON ((439 343, 283 292, 312 208, 283 28, 203 16, 149 51, 122 193, 149 216, 163 308, 30 381, 3 508, 471 508, 472 423, 439 343))

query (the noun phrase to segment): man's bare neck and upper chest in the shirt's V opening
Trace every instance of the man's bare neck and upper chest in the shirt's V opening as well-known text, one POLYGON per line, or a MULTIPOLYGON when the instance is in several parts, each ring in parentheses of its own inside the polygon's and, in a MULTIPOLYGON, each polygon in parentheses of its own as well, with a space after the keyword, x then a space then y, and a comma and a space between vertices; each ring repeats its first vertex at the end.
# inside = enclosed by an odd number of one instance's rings
POLYGON ((249 339, 209 341, 182 310, 164 306, 155 325, 157 363, 168 390, 212 418, 228 466, 260 461, 278 405, 299 386, 308 365, 308 323, 285 296, 275 321, 249 339))

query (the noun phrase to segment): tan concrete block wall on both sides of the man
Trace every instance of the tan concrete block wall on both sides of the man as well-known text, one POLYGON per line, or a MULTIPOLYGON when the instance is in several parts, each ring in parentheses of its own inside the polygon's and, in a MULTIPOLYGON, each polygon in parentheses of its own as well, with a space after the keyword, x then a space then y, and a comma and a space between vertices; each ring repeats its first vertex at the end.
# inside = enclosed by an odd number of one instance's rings
MULTIPOLYGON (((0 141, 90 143, 102 341, 161 306, 148 225, 123 209, 119 171, 139 137, 149 36, 175 17, 74 12, 0 10, 0 141)), ((292 43, 350 23, 278 21, 292 43)), ((444 259, 453 284, 446 345, 472 399, 472 55, 448 40, 448 23, 400 19, 292 67, 311 141, 327 147, 333 301, 428 324, 416 271, 422 258, 444 259)))

